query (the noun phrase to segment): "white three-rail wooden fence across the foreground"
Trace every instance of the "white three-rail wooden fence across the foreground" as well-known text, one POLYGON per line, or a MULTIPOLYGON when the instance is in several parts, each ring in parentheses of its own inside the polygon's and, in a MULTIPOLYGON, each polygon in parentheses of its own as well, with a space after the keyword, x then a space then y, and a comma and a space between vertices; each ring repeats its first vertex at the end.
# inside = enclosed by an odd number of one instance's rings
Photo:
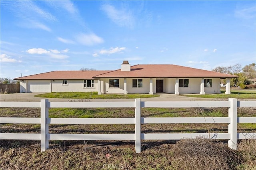
POLYGON ((41 108, 40 118, 9 118, 1 117, 0 123, 41 124, 41 133, 0 133, 0 139, 41 140, 41 151, 49 147, 49 140, 135 140, 136 153, 141 151, 141 140, 180 140, 202 136, 209 139, 228 140, 228 146, 236 149, 237 139, 254 138, 256 133, 237 133, 237 123, 256 123, 256 117, 237 117, 237 107, 256 107, 256 101, 166 101, 141 102, 0 102, 0 107, 36 107, 41 108), (49 118, 49 108, 107 108, 133 107, 135 118, 49 118), (141 107, 228 107, 228 117, 182 117, 182 118, 152 118, 141 117, 141 107), (141 124, 150 123, 228 123, 228 133, 141 133, 141 124), (50 134, 49 124, 135 124, 135 134, 50 134))

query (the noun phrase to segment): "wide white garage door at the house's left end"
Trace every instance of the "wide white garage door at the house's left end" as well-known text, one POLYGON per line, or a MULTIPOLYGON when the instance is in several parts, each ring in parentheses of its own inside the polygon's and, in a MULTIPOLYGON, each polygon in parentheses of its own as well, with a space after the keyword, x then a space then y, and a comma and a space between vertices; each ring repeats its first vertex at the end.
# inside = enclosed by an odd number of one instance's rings
POLYGON ((28 81, 28 92, 51 92, 50 80, 28 81))

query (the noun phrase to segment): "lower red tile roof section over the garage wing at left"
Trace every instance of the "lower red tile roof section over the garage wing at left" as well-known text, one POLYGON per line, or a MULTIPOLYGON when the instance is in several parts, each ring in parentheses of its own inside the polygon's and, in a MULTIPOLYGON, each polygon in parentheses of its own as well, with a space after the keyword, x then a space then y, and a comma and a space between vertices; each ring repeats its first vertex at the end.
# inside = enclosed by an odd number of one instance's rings
POLYGON ((50 71, 35 75, 15 78, 15 80, 46 80, 46 79, 93 79, 95 75, 109 71, 50 71))

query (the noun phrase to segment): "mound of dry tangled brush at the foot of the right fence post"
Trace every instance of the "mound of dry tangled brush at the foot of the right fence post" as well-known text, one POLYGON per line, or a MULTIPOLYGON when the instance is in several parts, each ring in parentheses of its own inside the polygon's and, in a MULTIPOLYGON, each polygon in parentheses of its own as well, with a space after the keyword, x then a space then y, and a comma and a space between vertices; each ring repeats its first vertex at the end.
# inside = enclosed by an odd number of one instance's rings
POLYGON ((172 165, 177 170, 230 170, 242 162, 235 150, 222 142, 180 140, 172 148, 172 165))

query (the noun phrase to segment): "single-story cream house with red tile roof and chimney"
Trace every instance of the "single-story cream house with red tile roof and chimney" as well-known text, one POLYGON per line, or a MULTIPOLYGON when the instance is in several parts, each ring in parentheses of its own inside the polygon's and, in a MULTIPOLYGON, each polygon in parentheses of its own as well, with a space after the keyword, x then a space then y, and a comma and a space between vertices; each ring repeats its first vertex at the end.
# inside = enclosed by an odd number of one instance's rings
POLYGON ((114 71, 51 71, 18 77, 20 92, 91 92, 105 93, 220 93, 220 79, 236 75, 172 64, 138 64, 128 61, 114 71))

